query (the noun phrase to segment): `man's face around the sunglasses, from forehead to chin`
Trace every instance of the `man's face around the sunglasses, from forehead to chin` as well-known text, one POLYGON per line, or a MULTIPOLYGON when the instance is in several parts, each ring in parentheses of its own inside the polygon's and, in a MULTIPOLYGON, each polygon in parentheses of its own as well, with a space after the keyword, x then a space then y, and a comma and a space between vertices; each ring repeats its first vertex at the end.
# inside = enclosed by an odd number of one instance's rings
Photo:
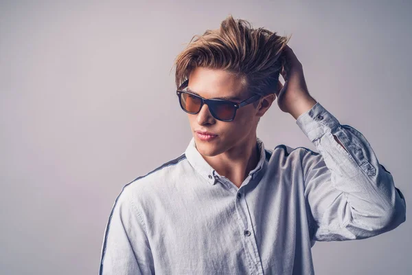
MULTIPOLYGON (((187 86, 203 98, 236 97, 233 102, 240 103, 251 95, 242 91, 239 79, 221 69, 197 67, 189 76, 187 86)), ((187 113, 192 134, 199 153, 207 156, 219 155, 236 145, 242 145, 251 139, 255 140, 256 127, 260 116, 253 103, 240 107, 231 122, 216 120, 211 115, 207 104, 199 113, 187 113), (211 140, 201 140, 195 131, 207 131, 218 135, 211 140)))

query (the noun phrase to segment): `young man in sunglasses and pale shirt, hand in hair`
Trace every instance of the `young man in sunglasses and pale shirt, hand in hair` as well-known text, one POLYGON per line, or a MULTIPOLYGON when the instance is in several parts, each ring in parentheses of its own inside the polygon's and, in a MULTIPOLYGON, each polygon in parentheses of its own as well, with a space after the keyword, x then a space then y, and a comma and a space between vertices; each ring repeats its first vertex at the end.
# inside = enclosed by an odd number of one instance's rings
POLYGON ((193 138, 124 186, 100 274, 314 274, 315 241, 365 239, 405 221, 391 173, 310 96, 287 42, 228 17, 179 54, 176 94, 193 138), (256 128, 275 98, 319 153, 265 148, 256 128))

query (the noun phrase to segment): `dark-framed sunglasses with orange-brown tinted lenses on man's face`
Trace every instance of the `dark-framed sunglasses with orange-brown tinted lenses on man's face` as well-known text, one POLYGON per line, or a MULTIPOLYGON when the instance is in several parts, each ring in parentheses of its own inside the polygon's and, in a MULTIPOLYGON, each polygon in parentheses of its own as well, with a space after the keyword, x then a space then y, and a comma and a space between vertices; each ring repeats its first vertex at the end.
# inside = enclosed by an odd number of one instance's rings
POLYGON ((240 107, 244 107, 247 104, 251 104, 260 98, 260 95, 252 96, 247 100, 240 103, 236 103, 230 100, 223 99, 206 99, 192 94, 190 91, 183 91, 187 87, 189 80, 186 80, 179 89, 177 89, 176 94, 179 98, 179 103, 181 108, 186 113, 196 114, 201 111, 203 104, 207 104, 211 115, 213 115, 216 120, 220 121, 232 121, 235 119, 236 110, 240 107))

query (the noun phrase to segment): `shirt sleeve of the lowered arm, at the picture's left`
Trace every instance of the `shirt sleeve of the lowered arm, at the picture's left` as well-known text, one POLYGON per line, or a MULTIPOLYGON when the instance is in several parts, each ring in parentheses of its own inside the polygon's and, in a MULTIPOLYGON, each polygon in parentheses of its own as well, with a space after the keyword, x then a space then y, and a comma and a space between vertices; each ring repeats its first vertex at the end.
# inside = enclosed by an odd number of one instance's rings
POLYGON ((112 208, 99 274, 155 274, 144 220, 125 186, 112 208))

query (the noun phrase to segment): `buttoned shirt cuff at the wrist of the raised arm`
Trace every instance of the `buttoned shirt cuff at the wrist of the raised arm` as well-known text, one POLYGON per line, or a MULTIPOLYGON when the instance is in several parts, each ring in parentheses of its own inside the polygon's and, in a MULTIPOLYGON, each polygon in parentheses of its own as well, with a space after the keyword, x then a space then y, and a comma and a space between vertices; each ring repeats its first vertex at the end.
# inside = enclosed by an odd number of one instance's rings
POLYGON ((339 125, 339 121, 317 102, 313 105, 312 109, 299 115, 296 124, 313 142, 327 131, 330 131, 330 129, 339 125))

